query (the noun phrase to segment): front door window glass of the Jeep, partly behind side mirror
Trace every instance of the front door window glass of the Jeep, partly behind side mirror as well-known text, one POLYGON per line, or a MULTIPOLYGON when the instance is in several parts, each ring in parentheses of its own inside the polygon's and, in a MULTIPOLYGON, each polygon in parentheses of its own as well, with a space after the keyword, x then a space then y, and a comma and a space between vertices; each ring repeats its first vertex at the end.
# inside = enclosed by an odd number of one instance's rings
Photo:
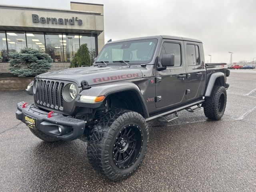
POLYGON ((181 66, 181 48, 178 43, 164 42, 160 53, 160 63, 162 63, 163 54, 174 54, 174 67, 181 66))

